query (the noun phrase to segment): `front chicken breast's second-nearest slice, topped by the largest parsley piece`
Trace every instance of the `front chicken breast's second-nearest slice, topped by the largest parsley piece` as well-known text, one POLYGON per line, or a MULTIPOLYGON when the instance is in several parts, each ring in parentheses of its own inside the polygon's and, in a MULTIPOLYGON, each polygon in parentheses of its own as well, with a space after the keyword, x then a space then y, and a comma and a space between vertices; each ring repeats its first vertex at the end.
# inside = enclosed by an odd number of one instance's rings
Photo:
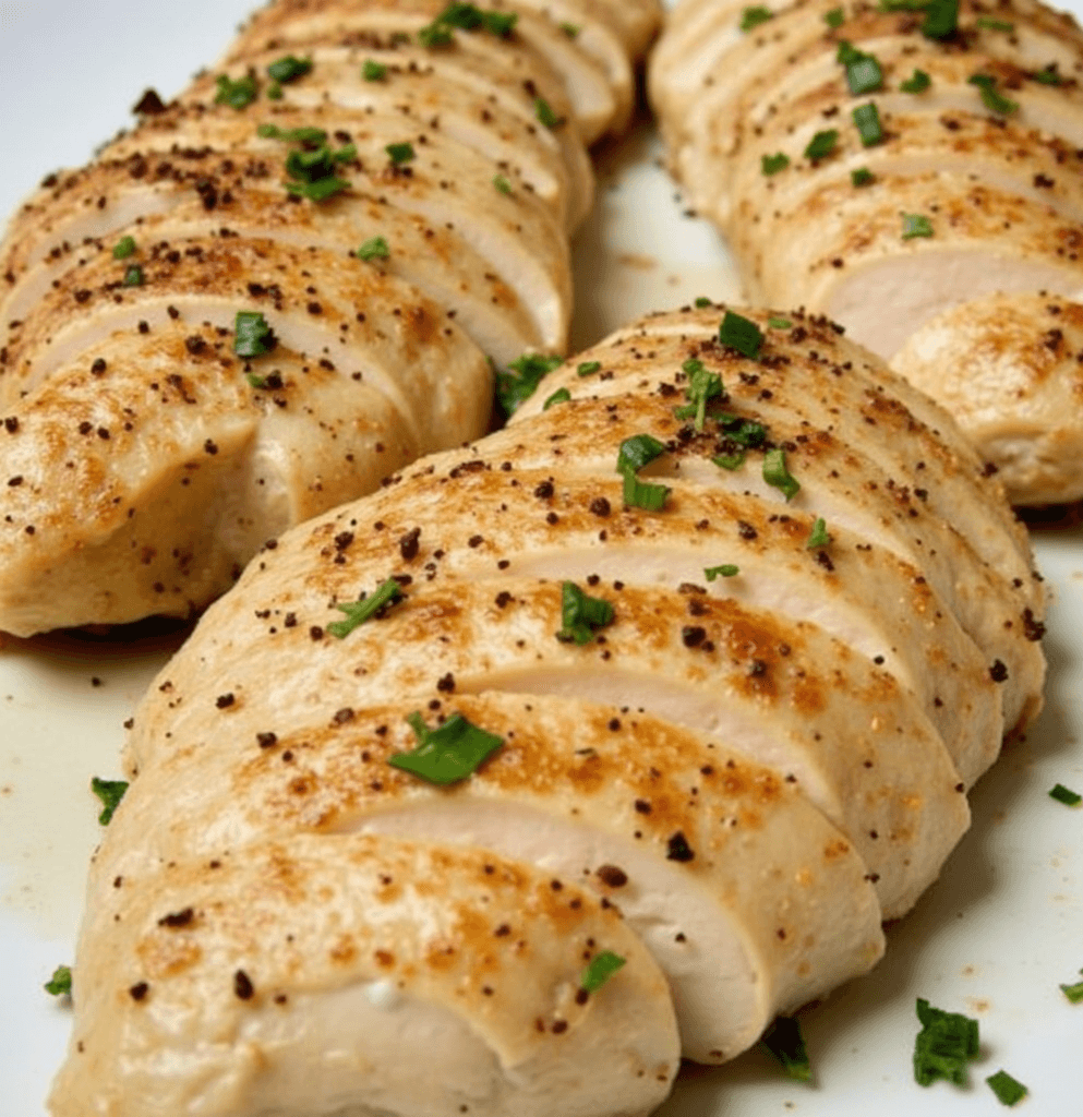
MULTIPOLYGON (((492 850, 617 906, 665 973, 683 1053, 700 1062, 734 1058, 776 1013, 882 953, 880 909, 850 843, 799 787, 722 738, 537 695, 419 697, 360 713, 335 709, 328 695, 307 717, 268 723, 247 686, 230 693, 224 709, 201 703, 202 728, 185 737, 226 729, 222 747, 201 748, 193 764, 178 741, 141 772, 111 824, 92 882, 92 937, 108 936, 126 906, 117 876, 138 889, 178 858, 243 857, 305 832, 492 850), (453 787, 400 771, 390 762, 415 748, 406 717, 422 705, 433 725, 458 714, 502 745, 453 787), (275 744, 253 754, 255 727, 270 724, 275 744), (163 794, 174 804, 167 825, 163 794)), ((948 844, 960 815, 965 824, 965 798, 952 805, 948 844)))

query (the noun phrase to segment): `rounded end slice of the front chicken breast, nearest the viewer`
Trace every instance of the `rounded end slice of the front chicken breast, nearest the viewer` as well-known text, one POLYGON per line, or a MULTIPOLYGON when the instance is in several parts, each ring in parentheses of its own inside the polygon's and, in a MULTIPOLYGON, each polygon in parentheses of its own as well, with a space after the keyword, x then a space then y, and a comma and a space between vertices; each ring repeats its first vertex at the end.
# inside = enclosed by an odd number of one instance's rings
POLYGON ((56 1117, 646 1117, 669 1091, 665 980, 575 881, 364 836, 218 853, 118 884, 56 1117), (606 953, 624 964, 583 995, 606 953))

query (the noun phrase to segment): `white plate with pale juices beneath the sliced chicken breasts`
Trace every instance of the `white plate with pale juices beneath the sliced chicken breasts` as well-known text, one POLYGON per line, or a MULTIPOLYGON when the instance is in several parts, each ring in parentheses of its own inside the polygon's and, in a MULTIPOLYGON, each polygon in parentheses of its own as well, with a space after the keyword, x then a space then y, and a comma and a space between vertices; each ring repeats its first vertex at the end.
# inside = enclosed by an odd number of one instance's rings
MULTIPOLYGON (((85 161, 146 86, 171 95, 211 64, 249 6, 0 2, 0 214, 50 170, 85 161)), ((643 311, 737 294, 718 238, 683 216, 659 154, 646 124, 602 153, 598 206, 577 244, 577 344, 643 311)), ((687 1075, 660 1117, 996 1114, 983 1079, 1001 1067, 1031 1087, 1020 1113, 1083 1109, 1083 1004, 1057 989, 1083 966, 1083 810, 1047 795, 1055 783, 1083 790, 1083 546, 1068 529, 1036 546, 1056 596, 1046 712, 978 786, 970 833, 891 929, 884 962, 802 1013, 815 1085, 789 1082, 754 1051, 687 1075), (913 1082, 918 996, 980 1020, 969 1090, 913 1082)), ((97 836, 88 783, 116 775, 122 724, 175 643, 50 637, 0 648, 0 1117, 44 1114, 68 1016, 41 983, 71 956, 97 836)))

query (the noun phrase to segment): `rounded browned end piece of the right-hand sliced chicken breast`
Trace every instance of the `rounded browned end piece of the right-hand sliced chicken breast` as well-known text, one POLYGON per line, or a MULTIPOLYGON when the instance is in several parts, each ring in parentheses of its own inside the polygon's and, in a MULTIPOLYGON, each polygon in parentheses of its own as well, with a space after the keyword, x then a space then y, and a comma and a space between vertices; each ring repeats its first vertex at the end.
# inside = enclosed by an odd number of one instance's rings
POLYGON ((959 303, 911 334, 892 364, 955 414, 1014 504, 1083 497, 1079 303, 1041 294, 959 303))

